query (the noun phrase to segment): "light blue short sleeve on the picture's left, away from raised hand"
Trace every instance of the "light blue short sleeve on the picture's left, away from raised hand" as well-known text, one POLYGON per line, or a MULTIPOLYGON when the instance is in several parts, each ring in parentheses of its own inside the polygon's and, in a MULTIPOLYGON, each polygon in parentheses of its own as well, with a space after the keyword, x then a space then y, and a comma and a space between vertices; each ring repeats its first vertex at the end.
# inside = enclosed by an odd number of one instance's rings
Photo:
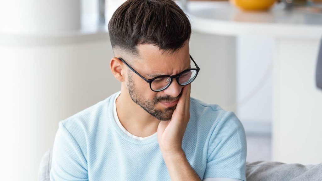
POLYGON ((76 139, 59 122, 53 152, 51 181, 87 181, 87 161, 76 139))

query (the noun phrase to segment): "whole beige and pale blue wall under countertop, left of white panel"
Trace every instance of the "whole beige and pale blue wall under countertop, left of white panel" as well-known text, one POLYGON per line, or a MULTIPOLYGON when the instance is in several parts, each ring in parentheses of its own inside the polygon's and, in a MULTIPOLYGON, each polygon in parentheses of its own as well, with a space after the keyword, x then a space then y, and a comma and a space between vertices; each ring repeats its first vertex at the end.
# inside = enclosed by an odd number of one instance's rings
POLYGON ((192 96, 234 111, 246 132, 270 136, 273 49, 270 37, 193 32, 190 53, 201 71, 192 96))

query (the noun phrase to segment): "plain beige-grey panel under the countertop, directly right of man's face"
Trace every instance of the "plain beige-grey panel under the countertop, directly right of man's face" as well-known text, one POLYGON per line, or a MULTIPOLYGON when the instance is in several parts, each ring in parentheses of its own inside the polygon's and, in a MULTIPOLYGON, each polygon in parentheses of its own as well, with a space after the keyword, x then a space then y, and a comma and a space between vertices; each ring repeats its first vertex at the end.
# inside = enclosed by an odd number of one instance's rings
POLYGON ((236 111, 235 42, 235 38, 229 36, 192 33, 190 54, 200 67, 192 83, 192 97, 236 111))

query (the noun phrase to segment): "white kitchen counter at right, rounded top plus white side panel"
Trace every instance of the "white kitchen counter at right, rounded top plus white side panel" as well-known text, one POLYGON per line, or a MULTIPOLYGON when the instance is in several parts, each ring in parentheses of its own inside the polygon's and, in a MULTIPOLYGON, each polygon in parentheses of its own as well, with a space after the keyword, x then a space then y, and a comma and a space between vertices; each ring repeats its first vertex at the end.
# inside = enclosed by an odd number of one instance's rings
POLYGON ((189 2, 187 14, 197 32, 272 39, 272 161, 321 163, 322 91, 315 74, 322 13, 280 5, 244 12, 228 2, 189 2))

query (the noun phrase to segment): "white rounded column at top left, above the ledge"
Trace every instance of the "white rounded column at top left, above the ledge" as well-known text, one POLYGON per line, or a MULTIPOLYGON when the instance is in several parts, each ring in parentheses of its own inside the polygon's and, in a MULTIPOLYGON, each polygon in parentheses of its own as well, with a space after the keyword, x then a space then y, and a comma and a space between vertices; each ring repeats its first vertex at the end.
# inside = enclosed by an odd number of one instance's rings
POLYGON ((57 33, 81 27, 80 0, 0 1, 0 33, 57 33))

